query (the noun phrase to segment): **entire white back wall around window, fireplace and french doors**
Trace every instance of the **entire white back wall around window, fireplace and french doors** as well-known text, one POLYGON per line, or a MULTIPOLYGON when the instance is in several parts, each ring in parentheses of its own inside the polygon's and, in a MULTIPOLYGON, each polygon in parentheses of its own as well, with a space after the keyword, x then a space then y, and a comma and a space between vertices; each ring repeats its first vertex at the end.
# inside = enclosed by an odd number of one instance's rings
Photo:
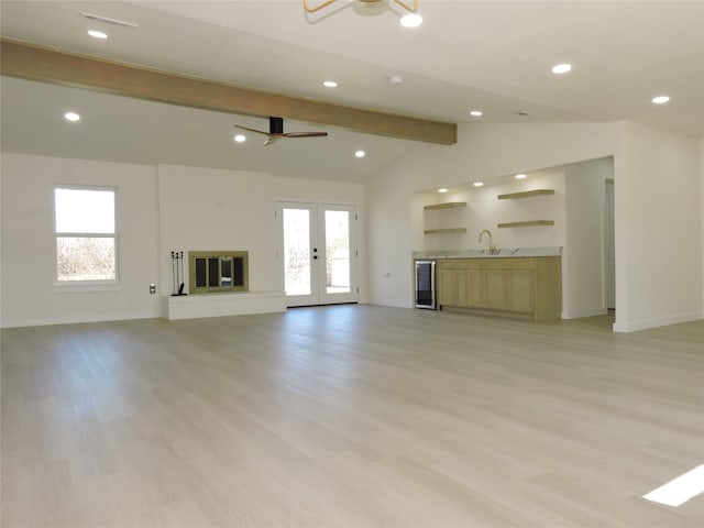
POLYGON ((0 184, 2 327, 160 317, 160 298, 173 293, 172 251, 249 251, 250 292, 276 290, 277 199, 358 206, 364 244, 361 184, 12 153, 2 154, 0 184), (119 288, 55 292, 54 184, 118 188, 119 288))

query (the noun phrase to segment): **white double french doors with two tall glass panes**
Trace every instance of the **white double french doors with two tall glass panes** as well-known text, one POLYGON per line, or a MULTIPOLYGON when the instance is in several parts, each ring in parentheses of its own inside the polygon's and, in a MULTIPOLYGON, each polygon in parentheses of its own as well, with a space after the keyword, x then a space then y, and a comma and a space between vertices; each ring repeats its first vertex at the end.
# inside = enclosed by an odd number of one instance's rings
POLYGON ((276 217, 286 305, 356 302, 356 208, 278 202, 276 217))

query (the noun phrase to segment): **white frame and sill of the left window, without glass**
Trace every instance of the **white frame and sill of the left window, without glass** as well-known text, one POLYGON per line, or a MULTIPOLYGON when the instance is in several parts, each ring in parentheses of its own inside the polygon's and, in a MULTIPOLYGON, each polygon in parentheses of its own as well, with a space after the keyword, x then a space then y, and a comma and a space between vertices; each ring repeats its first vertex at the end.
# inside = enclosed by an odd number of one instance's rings
POLYGON ((54 184, 52 186, 52 221, 54 223, 54 292, 109 292, 120 289, 120 240, 118 237, 118 188, 109 186, 96 185, 77 185, 77 184, 54 184), (59 232, 56 230, 56 189, 72 190, 102 190, 112 193, 114 199, 114 231, 110 233, 79 233, 79 232, 59 232), (94 279, 94 280, 59 280, 58 279, 58 238, 59 237, 77 237, 77 238, 101 238, 114 240, 114 275, 116 278, 94 279))

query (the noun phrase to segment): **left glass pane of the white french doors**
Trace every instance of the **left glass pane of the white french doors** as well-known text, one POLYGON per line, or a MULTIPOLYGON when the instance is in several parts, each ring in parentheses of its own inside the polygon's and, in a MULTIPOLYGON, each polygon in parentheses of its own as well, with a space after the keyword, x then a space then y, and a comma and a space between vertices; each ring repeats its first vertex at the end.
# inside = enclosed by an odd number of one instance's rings
POLYGON ((290 295, 311 295, 310 274, 310 211, 283 210, 284 223, 284 292, 290 295))

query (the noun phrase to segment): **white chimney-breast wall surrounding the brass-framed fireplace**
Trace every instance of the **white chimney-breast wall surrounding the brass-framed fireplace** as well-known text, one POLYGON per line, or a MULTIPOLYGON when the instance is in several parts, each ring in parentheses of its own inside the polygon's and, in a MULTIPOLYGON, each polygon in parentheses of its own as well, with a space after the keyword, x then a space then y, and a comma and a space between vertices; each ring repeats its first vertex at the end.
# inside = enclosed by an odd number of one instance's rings
POLYGON ((182 165, 158 166, 162 296, 174 286, 172 251, 248 251, 250 292, 273 292, 272 176, 182 165))

